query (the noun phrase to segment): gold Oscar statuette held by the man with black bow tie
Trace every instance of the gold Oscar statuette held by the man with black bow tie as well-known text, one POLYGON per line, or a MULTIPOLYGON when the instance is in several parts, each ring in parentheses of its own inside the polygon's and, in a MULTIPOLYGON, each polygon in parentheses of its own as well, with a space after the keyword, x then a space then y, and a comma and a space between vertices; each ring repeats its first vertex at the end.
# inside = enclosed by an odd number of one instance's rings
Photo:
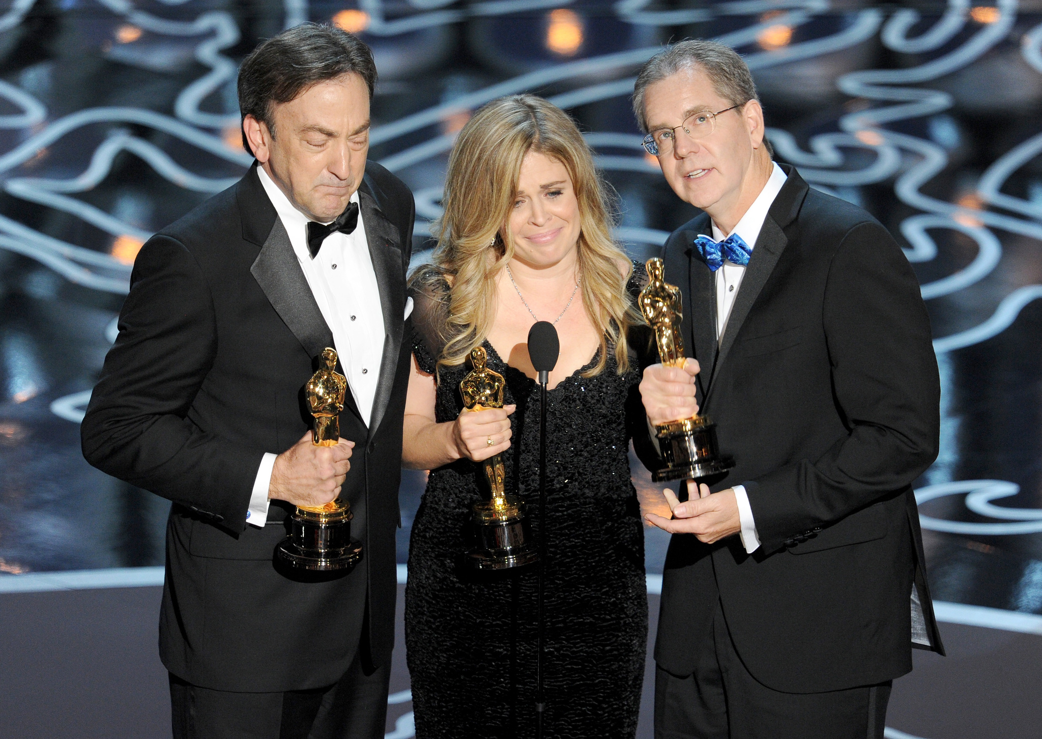
MULTIPOLYGON (((340 412, 348 388, 347 378, 337 371, 337 362, 336 349, 323 349, 318 372, 304 386, 315 418, 315 446, 336 446, 340 440, 340 412)), ((351 539, 351 504, 343 497, 320 507, 298 506, 290 516, 290 536, 276 547, 275 557, 296 570, 351 569, 362 559, 362 544, 351 539)))

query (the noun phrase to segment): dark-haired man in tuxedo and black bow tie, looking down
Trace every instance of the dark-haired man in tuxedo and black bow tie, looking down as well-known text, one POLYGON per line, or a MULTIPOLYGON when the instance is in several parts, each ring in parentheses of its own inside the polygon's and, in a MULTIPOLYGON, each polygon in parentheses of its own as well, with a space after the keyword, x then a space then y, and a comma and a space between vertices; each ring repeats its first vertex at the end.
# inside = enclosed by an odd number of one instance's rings
POLYGON ((83 420, 91 464, 173 501, 159 652, 178 739, 383 736, 414 204, 366 162, 375 82, 369 48, 328 26, 246 58, 257 162, 142 247, 83 420), (325 347, 350 387, 340 443, 316 447, 302 388, 325 347), (338 495, 362 562, 277 568, 294 506, 338 495))

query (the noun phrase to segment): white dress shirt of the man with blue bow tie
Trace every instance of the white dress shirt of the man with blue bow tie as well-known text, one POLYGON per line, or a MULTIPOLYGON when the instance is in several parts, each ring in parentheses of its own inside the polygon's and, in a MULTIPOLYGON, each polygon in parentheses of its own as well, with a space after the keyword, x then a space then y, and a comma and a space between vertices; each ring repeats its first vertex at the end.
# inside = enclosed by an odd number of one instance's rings
MULTIPOLYGON (((782 186, 785 184, 785 180, 786 173, 775 164, 767 184, 760 191, 760 195, 752 201, 749 210, 745 212, 745 215, 730 232, 738 233, 750 249, 755 246, 756 239, 760 238, 760 229, 764 227, 767 212, 770 211, 774 198, 777 197, 782 186)), ((713 241, 721 242, 730 233, 724 233, 716 223, 713 224, 713 241)), ((745 267, 728 262, 726 258, 723 261, 723 267, 716 271, 717 342, 723 339, 724 330, 727 328, 727 319, 730 318, 730 311, 735 306, 735 298, 742 286, 743 276, 745 276, 745 267)), ((742 485, 736 485, 734 491, 735 500, 738 502, 738 517, 742 524, 739 536, 742 538, 742 546, 751 555, 760 548, 760 537, 756 534, 756 523, 752 520, 749 496, 742 485)))

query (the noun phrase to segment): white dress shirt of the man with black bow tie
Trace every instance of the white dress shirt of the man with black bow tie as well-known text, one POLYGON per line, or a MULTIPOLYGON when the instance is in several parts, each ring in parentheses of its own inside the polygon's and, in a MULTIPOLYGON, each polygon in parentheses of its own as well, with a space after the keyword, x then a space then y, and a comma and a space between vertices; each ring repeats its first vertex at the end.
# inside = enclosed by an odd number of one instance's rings
MULTIPOLYGON (((290 236, 307 287, 332 332, 333 348, 340 356, 354 402, 363 419, 368 419, 372 415, 380 375, 384 326, 380 291, 362 214, 358 214, 358 225, 353 233, 333 231, 322 242, 322 248, 313 260, 307 251, 307 222, 311 219, 290 202, 263 167, 257 167, 257 175, 290 236)), ((357 192, 351 196, 351 202, 358 202, 357 192)), ((306 379, 301 377, 301 384, 306 379)), ((264 455, 253 482, 246 520, 255 526, 263 526, 268 520, 268 488, 275 457, 272 452, 264 455)))

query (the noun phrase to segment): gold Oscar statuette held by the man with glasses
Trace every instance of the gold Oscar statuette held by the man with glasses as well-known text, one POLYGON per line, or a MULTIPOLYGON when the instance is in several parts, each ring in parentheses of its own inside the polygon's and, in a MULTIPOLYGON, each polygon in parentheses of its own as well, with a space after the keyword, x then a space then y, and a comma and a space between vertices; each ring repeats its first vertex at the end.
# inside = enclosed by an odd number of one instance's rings
MULTIPOLYGON (((680 290, 665 281, 662 260, 647 261, 648 284, 639 298, 641 313, 654 329, 659 358, 666 367, 685 363, 684 320, 680 290)), ((698 479, 724 472, 735 466, 729 457, 721 457, 716 424, 709 416, 694 415, 655 425, 655 436, 666 466, 651 473, 656 483, 667 479, 698 479)))

